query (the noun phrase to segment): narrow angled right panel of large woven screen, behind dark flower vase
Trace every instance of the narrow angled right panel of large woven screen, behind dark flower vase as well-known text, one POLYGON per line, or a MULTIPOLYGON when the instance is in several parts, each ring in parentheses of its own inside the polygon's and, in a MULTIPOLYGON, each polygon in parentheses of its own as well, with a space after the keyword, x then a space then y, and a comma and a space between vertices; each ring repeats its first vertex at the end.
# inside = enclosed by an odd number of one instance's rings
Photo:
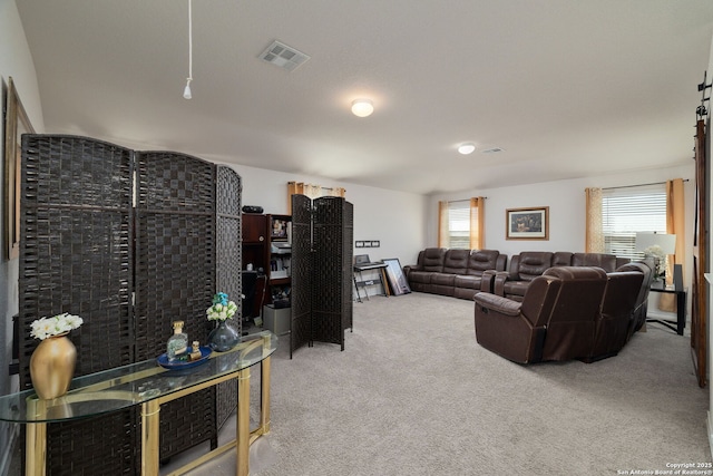
MULTIPOLYGON (((241 176, 229 167, 218 165, 215 181, 215 226, 216 263, 215 289, 228 294, 238 307, 243 300, 242 259, 242 214, 241 196, 243 184, 241 176)), ((240 309, 238 315, 243 315, 240 309)), ((232 319, 227 323, 238 336, 243 331, 243 320, 232 319)), ((237 380, 228 380, 217 386, 217 426, 221 428, 237 408, 237 380)))

